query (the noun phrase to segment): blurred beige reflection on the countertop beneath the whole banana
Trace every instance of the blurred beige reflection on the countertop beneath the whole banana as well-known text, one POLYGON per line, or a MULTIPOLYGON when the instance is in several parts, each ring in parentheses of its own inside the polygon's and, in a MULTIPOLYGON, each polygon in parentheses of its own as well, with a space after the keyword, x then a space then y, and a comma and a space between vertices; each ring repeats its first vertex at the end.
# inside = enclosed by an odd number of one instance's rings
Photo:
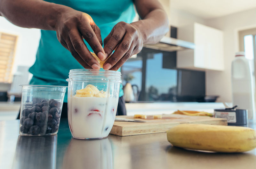
POLYGON ((209 153, 168 147, 167 167, 178 169, 255 169, 256 156, 247 153, 209 153))

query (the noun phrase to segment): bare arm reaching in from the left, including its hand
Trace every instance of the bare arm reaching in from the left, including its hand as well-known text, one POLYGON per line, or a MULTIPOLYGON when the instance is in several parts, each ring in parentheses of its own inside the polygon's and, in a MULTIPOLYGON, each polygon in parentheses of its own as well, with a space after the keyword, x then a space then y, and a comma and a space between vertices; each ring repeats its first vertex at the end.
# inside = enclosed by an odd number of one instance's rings
POLYGON ((17 26, 56 31, 60 43, 84 68, 100 69, 83 41, 105 58, 100 29, 88 14, 43 0, 0 0, 0 15, 17 26))

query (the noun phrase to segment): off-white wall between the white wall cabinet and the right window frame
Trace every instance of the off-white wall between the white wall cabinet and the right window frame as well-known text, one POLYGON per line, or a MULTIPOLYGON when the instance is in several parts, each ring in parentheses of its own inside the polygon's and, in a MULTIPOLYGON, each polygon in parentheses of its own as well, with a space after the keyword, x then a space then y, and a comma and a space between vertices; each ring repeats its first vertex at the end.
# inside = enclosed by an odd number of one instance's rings
POLYGON ((239 51, 238 31, 256 27, 255 18, 256 8, 206 21, 207 26, 222 30, 224 35, 225 70, 206 71, 206 94, 219 95, 220 102, 232 101, 231 62, 235 58, 235 52, 239 51))

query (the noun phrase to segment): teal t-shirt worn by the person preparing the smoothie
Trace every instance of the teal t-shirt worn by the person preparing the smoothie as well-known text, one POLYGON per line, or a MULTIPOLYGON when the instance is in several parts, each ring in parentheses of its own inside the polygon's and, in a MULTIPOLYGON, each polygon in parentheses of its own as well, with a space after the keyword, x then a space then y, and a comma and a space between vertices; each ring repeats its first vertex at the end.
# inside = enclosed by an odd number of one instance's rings
MULTIPOLYGON (((135 17, 132 0, 47 0, 55 4, 69 6, 77 11, 89 14, 99 26, 102 40, 112 28, 121 21, 131 23, 135 17)), ((87 48, 92 48, 85 42, 87 48)), ((57 39, 55 31, 41 30, 41 39, 36 54, 36 62, 29 69, 33 74, 31 85, 68 86, 66 79, 69 70, 83 69, 71 53, 57 39)), ((119 69, 120 71, 120 69, 119 69)), ((123 96, 123 86, 119 97, 123 96)), ((67 102, 67 92, 64 102, 67 102)))

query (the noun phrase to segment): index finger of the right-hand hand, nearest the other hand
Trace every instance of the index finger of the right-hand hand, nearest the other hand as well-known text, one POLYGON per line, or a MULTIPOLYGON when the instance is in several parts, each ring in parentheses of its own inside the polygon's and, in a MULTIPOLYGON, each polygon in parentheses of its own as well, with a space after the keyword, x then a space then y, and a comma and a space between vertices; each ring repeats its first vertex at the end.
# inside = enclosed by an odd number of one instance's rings
POLYGON ((116 26, 114 26, 113 31, 111 31, 112 33, 109 34, 109 37, 107 37, 109 40, 104 40, 106 41, 106 43, 104 43, 104 51, 107 57, 113 52, 116 46, 123 39, 123 36, 126 32, 125 26, 125 22, 117 23, 116 26))

